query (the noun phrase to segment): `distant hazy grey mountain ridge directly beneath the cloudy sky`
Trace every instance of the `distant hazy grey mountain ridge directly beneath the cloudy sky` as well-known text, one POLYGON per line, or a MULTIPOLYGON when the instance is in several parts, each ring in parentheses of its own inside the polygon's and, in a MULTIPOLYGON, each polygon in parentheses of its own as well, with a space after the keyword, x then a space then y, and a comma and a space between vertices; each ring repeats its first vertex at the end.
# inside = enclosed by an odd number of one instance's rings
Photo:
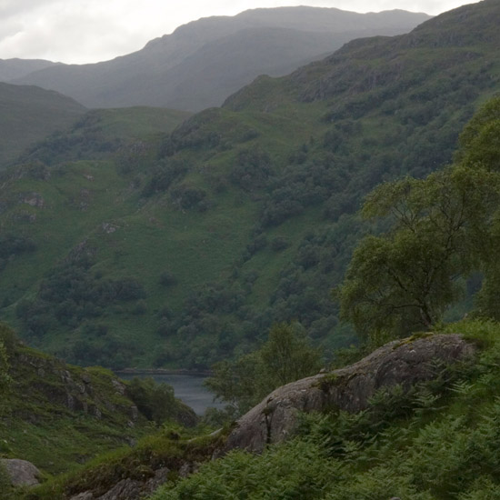
POLYGON ((255 9, 180 26, 112 61, 56 65, 11 83, 56 90, 87 107, 155 105, 199 111, 221 105, 257 75, 285 75, 353 38, 405 33, 428 18, 405 11, 255 9))

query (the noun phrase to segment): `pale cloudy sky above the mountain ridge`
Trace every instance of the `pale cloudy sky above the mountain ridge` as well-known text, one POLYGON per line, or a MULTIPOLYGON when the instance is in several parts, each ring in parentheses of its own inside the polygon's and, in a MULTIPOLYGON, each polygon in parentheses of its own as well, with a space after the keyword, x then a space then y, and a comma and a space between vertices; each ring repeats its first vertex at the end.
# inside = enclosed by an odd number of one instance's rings
POLYGON ((0 59, 107 61, 200 17, 257 7, 313 5, 363 13, 398 8, 437 15, 470 3, 474 0, 0 0, 0 59))

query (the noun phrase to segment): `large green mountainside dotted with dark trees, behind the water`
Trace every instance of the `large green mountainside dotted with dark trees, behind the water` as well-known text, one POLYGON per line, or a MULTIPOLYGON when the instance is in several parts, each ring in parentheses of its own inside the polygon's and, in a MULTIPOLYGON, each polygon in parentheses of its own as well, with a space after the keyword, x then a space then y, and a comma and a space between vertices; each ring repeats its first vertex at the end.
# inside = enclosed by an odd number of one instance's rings
POLYGON ((355 343, 331 290, 376 230, 356 211, 451 161, 500 91, 499 9, 352 41, 170 134, 129 117, 124 140, 94 111, 47 138, 2 175, 0 316, 81 365, 205 368, 294 320, 328 351, 355 343))

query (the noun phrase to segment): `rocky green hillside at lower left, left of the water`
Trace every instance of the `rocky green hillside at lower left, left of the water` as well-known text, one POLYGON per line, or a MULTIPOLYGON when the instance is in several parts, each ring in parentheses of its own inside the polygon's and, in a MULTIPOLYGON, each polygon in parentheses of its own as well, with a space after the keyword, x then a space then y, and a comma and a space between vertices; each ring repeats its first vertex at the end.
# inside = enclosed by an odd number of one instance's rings
MULTIPOLYGON (((144 399, 112 372, 66 365, 20 343, 3 324, 0 345, 6 347, 10 377, 0 388, 1 457, 28 460, 46 477, 153 432, 144 399)), ((173 391, 167 398, 158 395, 156 404, 168 400, 165 421, 195 425, 195 413, 173 391)))

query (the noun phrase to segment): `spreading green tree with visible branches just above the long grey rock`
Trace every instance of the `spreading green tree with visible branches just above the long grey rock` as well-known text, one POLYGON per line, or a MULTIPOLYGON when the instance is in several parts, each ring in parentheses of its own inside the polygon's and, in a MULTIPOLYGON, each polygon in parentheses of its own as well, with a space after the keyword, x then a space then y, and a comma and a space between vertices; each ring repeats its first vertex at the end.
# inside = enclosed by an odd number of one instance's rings
POLYGON ((363 215, 387 217, 390 229, 355 249, 338 289, 341 317, 362 335, 431 328, 460 295, 456 278, 480 267, 499 200, 499 175, 481 165, 375 188, 363 215))

